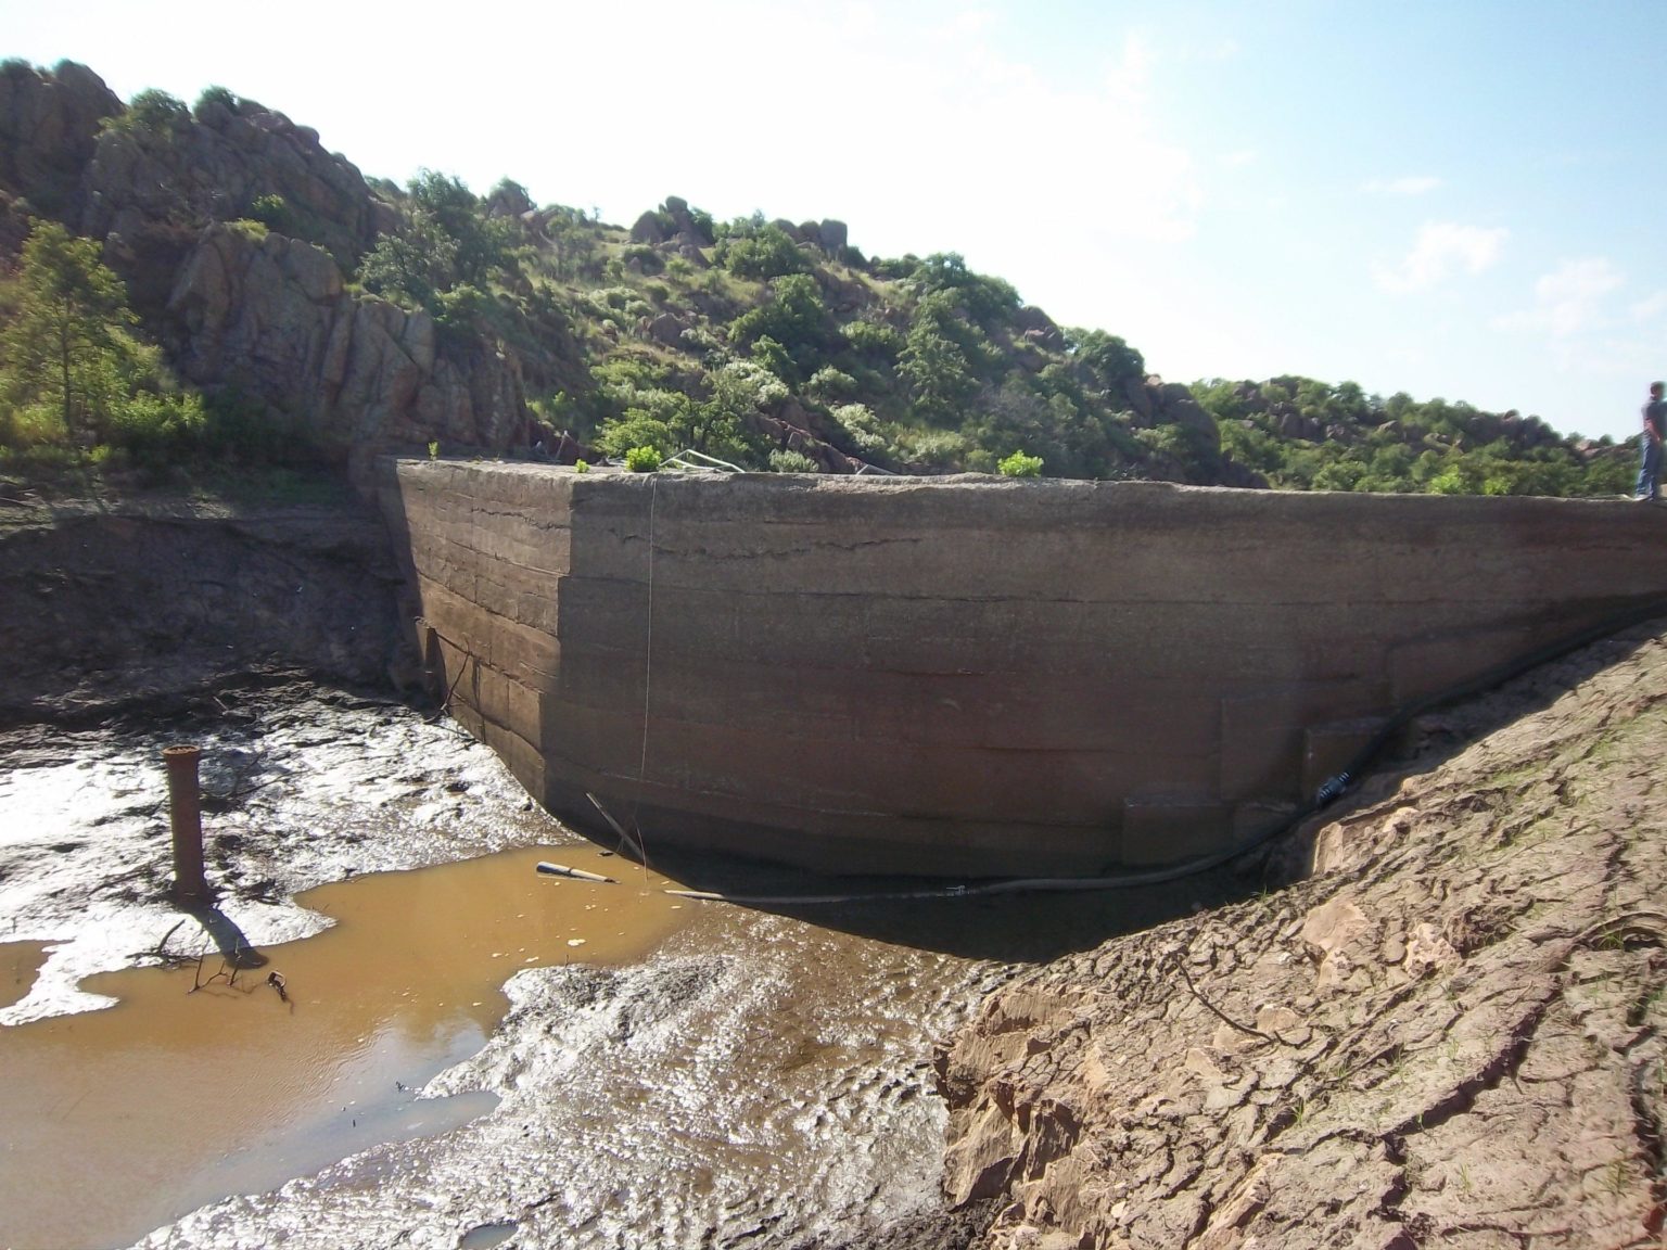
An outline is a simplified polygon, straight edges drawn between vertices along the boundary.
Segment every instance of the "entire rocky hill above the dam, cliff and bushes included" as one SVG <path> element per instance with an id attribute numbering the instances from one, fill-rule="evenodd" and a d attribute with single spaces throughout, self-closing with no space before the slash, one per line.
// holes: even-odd
<path id="1" fill-rule="evenodd" d="M 263 453 L 647 445 L 904 473 L 1025 453 L 1059 477 L 1514 493 L 1627 475 L 1514 413 L 1164 382 L 954 253 L 865 257 L 844 222 L 667 197 L 627 230 L 508 178 L 398 187 L 225 88 L 123 103 L 68 62 L 0 65 L 0 258 L 35 217 L 102 243 L 178 380 Z"/>

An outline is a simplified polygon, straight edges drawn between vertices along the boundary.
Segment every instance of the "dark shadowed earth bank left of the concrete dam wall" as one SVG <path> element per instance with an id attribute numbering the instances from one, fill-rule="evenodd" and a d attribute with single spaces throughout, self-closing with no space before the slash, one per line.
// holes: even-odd
<path id="1" fill-rule="evenodd" d="M 97 715 L 267 670 L 410 678 L 373 513 L 0 502 L 0 723 Z"/>

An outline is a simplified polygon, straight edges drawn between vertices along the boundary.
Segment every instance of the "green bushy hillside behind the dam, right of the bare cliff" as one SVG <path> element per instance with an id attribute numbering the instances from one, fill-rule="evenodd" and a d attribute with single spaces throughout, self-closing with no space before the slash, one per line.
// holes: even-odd
<path id="1" fill-rule="evenodd" d="M 390 190 L 420 212 L 435 185 Z M 844 458 L 935 473 L 995 472 L 1024 452 L 1054 477 L 1519 495 L 1619 493 L 1632 473 L 1625 448 L 1535 417 L 1347 382 L 1205 380 L 1187 405 L 1149 385 L 1125 340 L 1057 327 L 955 253 L 869 262 L 839 223 L 715 222 L 672 197 L 627 233 L 535 208 L 508 182 L 475 215 L 468 228 L 495 223 L 498 308 L 558 307 L 578 347 L 582 370 L 552 370 L 560 385 L 533 410 L 603 455 L 690 447 L 752 468 Z M 455 295 L 420 298 L 383 277 L 382 257 L 428 228 L 407 220 L 405 238 L 367 258 L 365 285 L 445 320 Z M 465 247 L 453 228 L 425 255 Z"/>

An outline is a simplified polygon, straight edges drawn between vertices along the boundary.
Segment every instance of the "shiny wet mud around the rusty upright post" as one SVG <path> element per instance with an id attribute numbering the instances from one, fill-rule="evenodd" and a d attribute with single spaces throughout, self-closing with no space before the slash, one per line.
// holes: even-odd
<path id="1" fill-rule="evenodd" d="M 100 725 L 3 730 L 3 937 L 52 950 L 0 1025 L 103 1007 L 82 978 L 160 962 L 180 912 L 158 770 L 182 737 L 205 752 L 208 883 L 255 947 L 322 930 L 295 903 L 317 885 L 562 837 L 485 747 L 372 693 L 235 685 Z"/>

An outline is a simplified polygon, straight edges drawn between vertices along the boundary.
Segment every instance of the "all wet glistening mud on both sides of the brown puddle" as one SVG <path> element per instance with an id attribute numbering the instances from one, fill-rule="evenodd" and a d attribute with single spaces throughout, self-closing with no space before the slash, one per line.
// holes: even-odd
<path id="1" fill-rule="evenodd" d="M 238 687 L 217 688 L 195 713 L 178 715 L 160 725 L 140 717 L 0 735 L 0 805 L 27 817 L 8 823 L 0 845 L 0 908 L 17 918 L 18 938 L 3 967 L 23 980 L 33 967 L 23 943 L 47 947 L 38 980 L 7 1008 L 7 1022 L 50 1023 L 52 1013 L 98 1005 L 80 980 L 152 963 L 165 938 L 175 952 L 202 945 L 200 935 L 195 945 L 170 937 L 180 913 L 163 897 L 157 753 L 178 737 L 205 747 L 208 877 L 220 908 L 265 948 L 327 923 L 293 902 L 323 882 L 350 887 L 362 873 L 563 840 L 575 862 L 597 853 L 533 808 L 485 747 L 397 703 L 307 685 Z M 605 863 L 622 865 L 622 880 L 597 888 L 643 888 L 623 860 Z M 722 885 L 713 872 L 707 865 L 700 883 Z M 755 885 L 735 872 L 732 883 Z M 578 888 L 538 882 L 548 900 Z M 340 1162 L 323 1170 L 315 1162 L 282 1185 L 245 1185 L 260 1175 L 248 1155 L 262 1142 L 293 1145 L 277 1127 L 253 1132 L 258 1140 L 232 1152 L 242 1158 L 217 1155 L 190 1175 L 158 1175 L 147 1197 L 172 1192 L 177 1205 L 162 1218 L 175 1222 L 142 1243 L 455 1247 L 503 1233 L 505 1245 L 563 1248 L 967 1245 L 982 1217 L 942 1212 L 947 1115 L 934 1097 L 934 1042 L 1022 963 L 1149 925 L 1165 913 L 1152 910 L 1159 905 L 1174 915 L 1215 900 L 1189 883 L 1162 903 L 1049 900 L 1042 913 L 1034 900 L 798 915 L 687 903 L 675 935 L 623 967 L 548 962 L 510 977 L 503 962 L 507 997 L 475 1033 L 478 1053 L 445 1057 L 442 1048 L 432 1077 L 377 1067 L 380 1093 L 372 1093 L 385 1107 L 352 1092 L 352 1110 L 332 1107 L 333 1122 L 308 1130 L 303 1145 L 323 1133 Z M 455 917 L 443 907 L 427 915 L 442 930 Z M 192 968 L 173 975 L 183 977 L 183 1003 Z M 88 988 L 110 985 L 95 978 Z M 303 975 L 295 988 L 297 1012 L 322 1010 L 303 998 L 320 992 L 317 977 Z M 230 1005 L 282 1012 L 263 987 Z M 192 1072 L 187 1063 L 183 1077 Z M 412 1083 L 410 1093 L 395 1090 L 395 1078 Z M 98 1107 L 77 1097 L 65 1088 L 42 1117 L 73 1120 Z M 253 1082 L 223 1095 L 225 1118 L 253 1097 Z M 470 1105 L 467 1123 L 447 1123 L 450 1098 L 483 1103 Z M 410 1140 L 390 1132 L 367 1142 L 353 1137 L 360 1113 L 393 1128 L 405 1123 L 398 1117 L 422 1117 L 427 1128 Z M 20 1145 L 13 1133 L 7 1148 Z M 230 1177 L 222 1193 L 240 1197 L 188 1212 L 202 1200 L 190 1200 L 200 1193 L 192 1187 L 208 1173 Z M 0 1167 L 7 1175 L 22 1172 Z M 72 1202 L 78 1180 L 57 1193 L 52 1185 L 37 1187 L 40 1205 Z M 143 1233 L 128 1228 L 80 1243 Z M 7 1240 L 15 1238 L 0 1230 Z"/>

